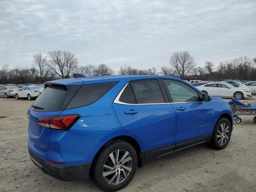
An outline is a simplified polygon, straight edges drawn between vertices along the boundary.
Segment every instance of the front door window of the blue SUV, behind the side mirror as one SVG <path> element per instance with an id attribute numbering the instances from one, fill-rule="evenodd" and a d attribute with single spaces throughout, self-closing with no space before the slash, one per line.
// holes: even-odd
<path id="1" fill-rule="evenodd" d="M 194 102 L 200 100 L 197 91 L 190 86 L 174 80 L 164 80 L 164 82 L 170 92 L 172 102 Z"/>

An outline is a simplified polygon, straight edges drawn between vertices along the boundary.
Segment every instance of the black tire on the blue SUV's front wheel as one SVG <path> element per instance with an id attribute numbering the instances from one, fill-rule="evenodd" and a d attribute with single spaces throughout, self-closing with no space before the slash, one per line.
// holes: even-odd
<path id="1" fill-rule="evenodd" d="M 223 130 L 225 130 L 225 128 L 227 128 L 226 126 L 228 126 L 228 128 L 226 129 L 226 131 L 228 132 L 223 131 L 225 132 L 225 134 L 221 134 L 219 131 L 222 129 L 222 126 L 221 126 L 222 124 L 224 126 Z M 217 121 L 214 127 L 214 131 L 212 133 L 212 138 L 210 141 L 210 145 L 212 146 L 212 148 L 216 150 L 224 149 L 228 145 L 228 142 L 230 141 L 231 132 L 232 132 L 232 127 L 229 120 L 223 117 L 219 118 L 219 120 Z M 221 139 L 223 140 L 223 142 Z"/>

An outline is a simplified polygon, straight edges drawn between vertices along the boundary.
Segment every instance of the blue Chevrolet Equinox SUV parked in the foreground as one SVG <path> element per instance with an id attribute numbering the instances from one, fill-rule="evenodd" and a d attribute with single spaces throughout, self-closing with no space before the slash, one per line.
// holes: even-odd
<path id="1" fill-rule="evenodd" d="M 28 151 L 60 180 L 89 176 L 124 188 L 136 168 L 209 142 L 220 150 L 233 128 L 230 104 L 169 76 L 100 76 L 45 83 L 28 109 Z"/>

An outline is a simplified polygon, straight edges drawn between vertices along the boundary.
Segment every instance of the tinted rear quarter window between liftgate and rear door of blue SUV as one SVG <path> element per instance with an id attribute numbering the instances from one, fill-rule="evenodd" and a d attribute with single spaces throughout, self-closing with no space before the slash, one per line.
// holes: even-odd
<path id="1" fill-rule="evenodd" d="M 92 104 L 117 83 L 118 81 L 83 85 L 65 109 L 72 109 Z M 44 92 L 45 90 L 42 93 Z"/>

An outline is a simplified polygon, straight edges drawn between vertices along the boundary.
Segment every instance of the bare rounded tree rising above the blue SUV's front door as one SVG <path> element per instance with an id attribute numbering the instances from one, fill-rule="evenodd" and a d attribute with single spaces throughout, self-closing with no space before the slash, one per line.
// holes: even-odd
<path id="1" fill-rule="evenodd" d="M 170 58 L 170 64 L 177 71 L 180 78 L 187 76 L 196 66 L 194 58 L 187 51 L 174 52 Z"/>

